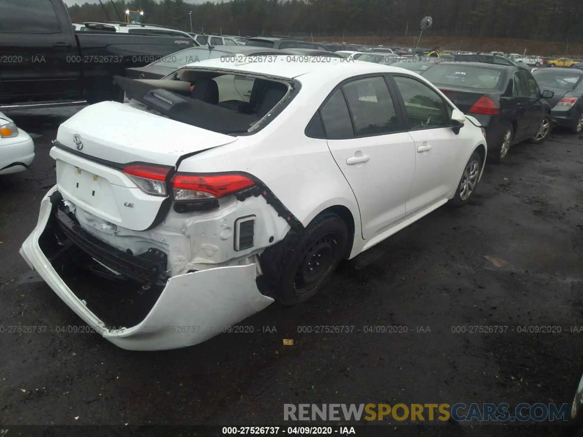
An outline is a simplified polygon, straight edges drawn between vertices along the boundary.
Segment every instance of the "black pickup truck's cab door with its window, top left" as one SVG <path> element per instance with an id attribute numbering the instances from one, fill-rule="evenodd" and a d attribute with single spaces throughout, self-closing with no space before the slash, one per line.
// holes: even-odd
<path id="1" fill-rule="evenodd" d="M 80 97 L 80 56 L 66 18 L 56 0 L 0 2 L 2 82 L 10 101 Z"/>

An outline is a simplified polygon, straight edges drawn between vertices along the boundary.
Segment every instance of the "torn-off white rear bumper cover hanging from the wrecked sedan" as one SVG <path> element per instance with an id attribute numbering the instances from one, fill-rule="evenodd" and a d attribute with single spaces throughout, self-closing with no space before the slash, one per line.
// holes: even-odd
<path id="1" fill-rule="evenodd" d="M 127 350 L 166 350 L 201 343 L 261 311 L 273 302 L 259 292 L 256 266 L 216 267 L 171 277 L 145 318 L 135 326 L 115 329 L 92 311 L 59 276 L 39 245 L 50 221 L 50 196 L 43 198 L 37 226 L 20 248 L 20 254 L 80 318 L 107 340 Z M 95 281 L 107 280 L 94 277 Z"/>

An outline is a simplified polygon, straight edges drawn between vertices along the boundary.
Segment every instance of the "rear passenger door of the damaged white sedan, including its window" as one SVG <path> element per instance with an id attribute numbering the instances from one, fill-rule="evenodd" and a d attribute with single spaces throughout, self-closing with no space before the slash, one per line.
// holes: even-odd
<path id="1" fill-rule="evenodd" d="M 356 196 L 365 239 L 406 214 L 415 150 L 396 106 L 377 75 L 343 83 L 320 110 L 328 147 Z"/>

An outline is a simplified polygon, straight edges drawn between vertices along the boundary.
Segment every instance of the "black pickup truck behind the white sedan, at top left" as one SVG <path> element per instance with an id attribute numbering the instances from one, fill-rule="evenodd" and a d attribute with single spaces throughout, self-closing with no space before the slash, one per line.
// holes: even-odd
<path id="1" fill-rule="evenodd" d="M 177 36 L 76 33 L 62 0 L 2 0 L 0 111 L 118 100 L 114 75 L 194 45 Z"/>

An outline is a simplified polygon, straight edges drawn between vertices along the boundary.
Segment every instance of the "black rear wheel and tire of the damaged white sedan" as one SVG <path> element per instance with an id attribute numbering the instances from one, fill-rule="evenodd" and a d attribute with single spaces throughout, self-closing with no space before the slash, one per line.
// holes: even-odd
<path id="1" fill-rule="evenodd" d="M 348 228 L 334 213 L 317 216 L 285 254 L 275 298 L 296 305 L 315 295 L 330 279 L 346 250 Z"/>

